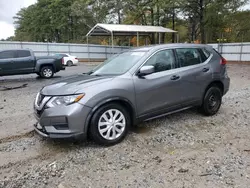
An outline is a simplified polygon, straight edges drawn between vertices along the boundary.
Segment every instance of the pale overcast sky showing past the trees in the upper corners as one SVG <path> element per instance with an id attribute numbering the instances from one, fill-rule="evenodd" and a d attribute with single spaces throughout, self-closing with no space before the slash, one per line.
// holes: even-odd
<path id="1" fill-rule="evenodd" d="M 0 0 L 0 39 L 14 35 L 13 16 L 23 7 L 35 3 L 37 0 Z M 244 7 L 250 9 L 250 4 Z"/>

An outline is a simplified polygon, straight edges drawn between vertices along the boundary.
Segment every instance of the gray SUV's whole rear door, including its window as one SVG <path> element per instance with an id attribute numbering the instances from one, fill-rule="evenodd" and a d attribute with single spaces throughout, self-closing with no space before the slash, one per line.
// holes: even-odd
<path id="1" fill-rule="evenodd" d="M 179 74 L 182 77 L 183 106 L 192 105 L 202 100 L 204 88 L 212 79 L 211 58 L 205 57 L 197 48 L 176 49 L 176 54 L 181 67 Z"/>

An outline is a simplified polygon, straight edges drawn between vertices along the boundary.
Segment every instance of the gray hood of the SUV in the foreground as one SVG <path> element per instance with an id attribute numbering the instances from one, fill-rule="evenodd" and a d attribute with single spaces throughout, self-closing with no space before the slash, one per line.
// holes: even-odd
<path id="1" fill-rule="evenodd" d="M 113 79 L 111 76 L 77 75 L 68 77 L 54 84 L 45 86 L 41 94 L 49 96 L 72 95 L 81 93 L 87 87 L 107 82 Z"/>

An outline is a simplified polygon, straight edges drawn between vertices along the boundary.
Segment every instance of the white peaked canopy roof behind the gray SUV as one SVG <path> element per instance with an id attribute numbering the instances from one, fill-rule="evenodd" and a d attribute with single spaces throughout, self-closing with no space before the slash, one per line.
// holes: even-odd
<path id="1" fill-rule="evenodd" d="M 87 36 L 134 36 L 150 33 L 176 33 L 176 31 L 161 26 L 96 24 Z"/>

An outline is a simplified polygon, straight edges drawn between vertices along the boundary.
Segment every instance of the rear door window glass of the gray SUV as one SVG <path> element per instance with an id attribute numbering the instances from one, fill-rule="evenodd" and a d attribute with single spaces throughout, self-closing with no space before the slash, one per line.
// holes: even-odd
<path id="1" fill-rule="evenodd" d="M 176 49 L 176 53 L 181 67 L 202 63 L 201 54 L 196 48 Z"/>

